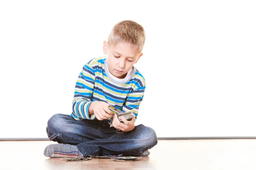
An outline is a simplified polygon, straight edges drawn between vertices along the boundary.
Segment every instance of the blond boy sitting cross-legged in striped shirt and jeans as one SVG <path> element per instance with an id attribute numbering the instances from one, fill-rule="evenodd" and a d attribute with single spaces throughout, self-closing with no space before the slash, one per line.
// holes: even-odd
<path id="1" fill-rule="evenodd" d="M 131 20 L 117 23 L 103 43 L 107 57 L 91 59 L 82 68 L 75 86 L 71 115 L 55 114 L 47 125 L 47 157 L 119 155 L 148 156 L 157 144 L 151 127 L 135 126 L 145 91 L 145 79 L 134 64 L 143 55 L 144 28 Z M 122 122 L 108 108 L 134 113 Z M 109 118 L 113 116 L 113 127 Z"/>

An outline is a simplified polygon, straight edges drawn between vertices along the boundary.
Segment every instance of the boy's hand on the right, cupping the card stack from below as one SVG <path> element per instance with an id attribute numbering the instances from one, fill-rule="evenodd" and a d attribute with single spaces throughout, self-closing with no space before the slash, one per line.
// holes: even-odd
<path id="1" fill-rule="evenodd" d="M 124 110 L 127 112 L 129 110 L 125 109 Z M 134 120 L 135 120 L 135 115 L 131 120 L 126 120 L 124 116 L 121 116 L 122 121 L 120 122 L 119 119 L 117 118 L 116 114 L 113 115 L 113 127 L 116 129 L 122 130 L 122 132 L 129 132 L 134 129 Z"/>

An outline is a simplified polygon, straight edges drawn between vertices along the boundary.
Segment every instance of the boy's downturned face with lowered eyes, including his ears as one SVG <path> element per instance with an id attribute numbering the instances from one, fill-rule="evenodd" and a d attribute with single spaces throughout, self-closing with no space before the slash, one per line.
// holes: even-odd
<path id="1" fill-rule="evenodd" d="M 143 53 L 138 53 L 137 48 L 130 43 L 117 43 L 108 45 L 105 41 L 103 52 L 107 54 L 109 72 L 116 78 L 125 78 L 128 71 L 139 60 Z"/>

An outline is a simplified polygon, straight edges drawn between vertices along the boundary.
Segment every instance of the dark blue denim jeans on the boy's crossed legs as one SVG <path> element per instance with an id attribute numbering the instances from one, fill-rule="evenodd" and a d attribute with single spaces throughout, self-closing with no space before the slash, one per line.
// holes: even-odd
<path id="1" fill-rule="evenodd" d="M 84 157 L 148 156 L 148 149 L 157 144 L 157 135 L 151 127 L 142 124 L 127 133 L 116 133 L 105 120 L 76 120 L 70 115 L 55 114 L 48 120 L 47 135 L 50 141 L 76 145 Z M 148 154 L 147 154 L 148 153 Z"/>

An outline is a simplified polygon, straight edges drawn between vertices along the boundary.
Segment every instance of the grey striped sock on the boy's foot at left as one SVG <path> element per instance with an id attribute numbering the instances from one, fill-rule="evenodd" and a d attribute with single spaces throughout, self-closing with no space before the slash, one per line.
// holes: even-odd
<path id="1" fill-rule="evenodd" d="M 70 144 L 49 144 L 44 149 L 44 156 L 47 157 L 81 157 L 83 156 L 76 145 Z"/>

